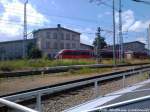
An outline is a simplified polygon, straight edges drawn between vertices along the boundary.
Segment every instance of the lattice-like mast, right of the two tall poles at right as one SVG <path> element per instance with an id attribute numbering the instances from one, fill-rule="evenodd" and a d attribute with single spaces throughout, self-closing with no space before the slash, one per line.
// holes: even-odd
<path id="1" fill-rule="evenodd" d="M 122 35 L 122 2 L 119 0 L 119 58 L 120 61 L 124 61 L 124 49 L 123 49 L 123 35 Z"/>

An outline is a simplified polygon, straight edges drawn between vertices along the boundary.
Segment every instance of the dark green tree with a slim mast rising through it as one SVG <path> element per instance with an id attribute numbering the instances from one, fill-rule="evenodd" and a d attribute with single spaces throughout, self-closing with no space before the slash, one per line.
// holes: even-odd
<path id="1" fill-rule="evenodd" d="M 101 49 L 103 49 L 105 46 L 107 46 L 107 43 L 105 41 L 105 38 L 101 36 L 101 28 L 98 27 L 97 33 L 96 33 L 96 38 L 93 41 L 93 46 L 96 51 L 96 56 L 97 56 L 97 62 L 101 62 Z"/>

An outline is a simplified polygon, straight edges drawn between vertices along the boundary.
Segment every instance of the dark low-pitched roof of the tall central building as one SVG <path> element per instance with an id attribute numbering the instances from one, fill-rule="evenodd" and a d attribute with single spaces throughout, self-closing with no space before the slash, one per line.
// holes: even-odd
<path id="1" fill-rule="evenodd" d="M 42 28 L 42 29 L 38 29 L 38 30 L 33 31 L 33 33 L 36 33 L 36 32 L 39 32 L 39 31 L 44 31 L 44 30 L 58 30 L 58 28 L 60 28 L 60 29 L 62 29 L 62 30 L 69 31 L 69 32 L 77 33 L 78 35 L 81 34 L 81 33 L 79 33 L 79 32 L 76 32 L 76 31 L 73 31 L 73 30 L 70 30 L 70 29 L 67 29 L 67 28 L 64 28 L 64 27 L 57 27 L 57 28 Z"/>

